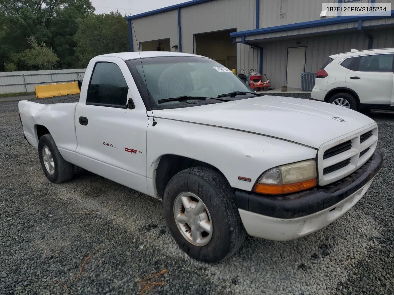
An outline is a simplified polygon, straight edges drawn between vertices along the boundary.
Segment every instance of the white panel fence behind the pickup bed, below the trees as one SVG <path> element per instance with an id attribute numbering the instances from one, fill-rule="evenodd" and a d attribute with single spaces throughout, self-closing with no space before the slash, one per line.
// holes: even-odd
<path id="1" fill-rule="evenodd" d="M 34 92 L 37 85 L 78 81 L 86 69 L 0 72 L 0 94 Z"/>

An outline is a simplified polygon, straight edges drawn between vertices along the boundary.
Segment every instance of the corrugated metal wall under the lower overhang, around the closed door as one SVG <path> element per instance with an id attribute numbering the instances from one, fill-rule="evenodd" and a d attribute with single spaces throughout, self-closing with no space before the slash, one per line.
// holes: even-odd
<path id="1" fill-rule="evenodd" d="M 373 48 L 394 47 L 394 30 L 371 30 Z M 299 44 L 297 44 L 299 43 Z M 305 72 L 315 72 L 336 53 L 368 49 L 368 38 L 361 32 L 340 33 L 321 37 L 309 37 L 260 44 L 264 48 L 263 72 L 267 74 L 273 88 L 286 85 L 287 49 L 306 46 Z M 263 73 L 263 74 L 264 74 Z"/>

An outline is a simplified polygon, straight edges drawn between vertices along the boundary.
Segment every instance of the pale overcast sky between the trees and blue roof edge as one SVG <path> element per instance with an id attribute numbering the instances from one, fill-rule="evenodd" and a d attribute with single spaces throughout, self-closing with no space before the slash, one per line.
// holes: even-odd
<path id="1" fill-rule="evenodd" d="M 188 0 L 91 0 L 97 14 L 119 10 L 121 15 L 134 15 L 186 1 Z"/>

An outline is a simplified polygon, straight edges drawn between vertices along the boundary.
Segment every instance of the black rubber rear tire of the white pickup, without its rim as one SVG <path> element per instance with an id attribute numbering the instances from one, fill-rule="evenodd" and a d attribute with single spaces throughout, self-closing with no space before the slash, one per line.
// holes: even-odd
<path id="1" fill-rule="evenodd" d="M 43 159 L 43 149 L 48 147 L 54 162 L 54 173 L 50 173 L 45 167 Z M 74 164 L 67 162 L 59 153 L 58 147 L 52 138 L 52 135 L 45 134 L 41 136 L 38 142 L 38 155 L 40 158 L 41 168 L 46 178 L 52 183 L 64 183 L 70 181 L 74 176 Z"/>

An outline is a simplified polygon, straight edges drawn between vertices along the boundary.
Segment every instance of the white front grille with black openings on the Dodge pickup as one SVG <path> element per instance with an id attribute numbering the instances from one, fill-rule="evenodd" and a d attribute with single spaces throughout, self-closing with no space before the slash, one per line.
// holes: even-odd
<path id="1" fill-rule="evenodd" d="M 374 125 L 324 144 L 318 151 L 319 184 L 333 183 L 356 171 L 374 153 L 377 138 Z"/>

